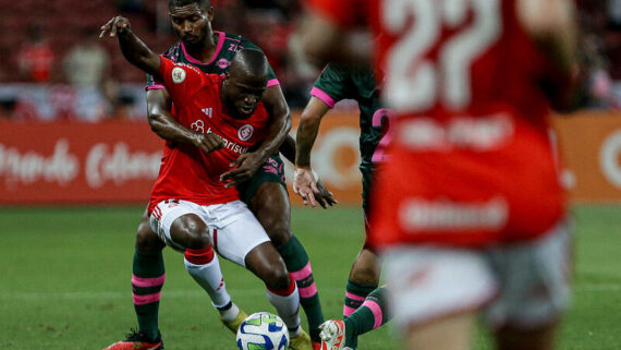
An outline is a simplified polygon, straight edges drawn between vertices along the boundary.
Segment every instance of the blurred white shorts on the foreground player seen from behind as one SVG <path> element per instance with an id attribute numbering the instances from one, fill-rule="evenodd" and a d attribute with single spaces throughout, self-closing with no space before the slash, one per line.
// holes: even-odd
<path id="1" fill-rule="evenodd" d="M 570 237 L 564 224 L 529 242 L 484 250 L 399 246 L 382 252 L 398 326 L 484 309 L 492 327 L 555 322 L 569 302 Z"/>

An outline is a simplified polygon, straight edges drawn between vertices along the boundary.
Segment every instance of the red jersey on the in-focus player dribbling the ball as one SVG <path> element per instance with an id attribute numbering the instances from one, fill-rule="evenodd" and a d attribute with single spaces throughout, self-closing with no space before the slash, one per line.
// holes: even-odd
<path id="1" fill-rule="evenodd" d="M 231 161 L 265 137 L 268 114 L 263 102 L 249 118 L 232 118 L 220 98 L 223 77 L 160 58 L 159 73 L 173 100 L 179 122 L 200 133 L 220 135 L 226 146 L 205 154 L 193 145 L 168 142 L 151 192 L 149 214 L 165 200 L 185 200 L 199 205 L 238 200 L 238 190 L 226 189 L 220 174 L 231 169 Z"/>

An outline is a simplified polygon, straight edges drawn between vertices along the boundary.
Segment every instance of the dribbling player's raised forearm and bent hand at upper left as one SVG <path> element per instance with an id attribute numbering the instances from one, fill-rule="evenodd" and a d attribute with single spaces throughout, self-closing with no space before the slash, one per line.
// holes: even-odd
<path id="1" fill-rule="evenodd" d="M 143 40 L 141 40 L 130 26 L 130 21 L 123 16 L 115 16 L 101 26 L 101 34 L 110 37 L 118 37 L 119 47 L 125 59 L 133 65 L 151 74 L 160 76 L 158 70 L 160 65 L 160 58 L 157 53 L 151 51 Z"/>

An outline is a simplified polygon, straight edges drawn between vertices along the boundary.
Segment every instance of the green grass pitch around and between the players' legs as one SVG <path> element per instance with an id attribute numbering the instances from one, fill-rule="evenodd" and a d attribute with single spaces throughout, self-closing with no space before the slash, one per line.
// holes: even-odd
<path id="1" fill-rule="evenodd" d="M 0 349 L 101 349 L 135 325 L 131 299 L 134 232 L 143 207 L 0 208 Z M 327 317 L 342 311 L 351 263 L 363 240 L 357 208 L 297 208 Z M 559 349 L 621 349 L 621 207 L 579 206 L 574 299 Z M 160 328 L 167 349 L 235 349 L 179 253 L 166 250 Z M 272 310 L 258 279 L 222 262 L 230 293 L 246 312 Z M 304 318 L 304 317 L 303 317 Z M 361 350 L 397 349 L 383 327 Z M 491 349 L 482 331 L 477 349 Z"/>

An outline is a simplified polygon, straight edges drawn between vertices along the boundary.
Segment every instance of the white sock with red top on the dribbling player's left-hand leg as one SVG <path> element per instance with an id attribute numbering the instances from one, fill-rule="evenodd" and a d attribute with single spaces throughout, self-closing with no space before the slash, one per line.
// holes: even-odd
<path id="1" fill-rule="evenodd" d="M 183 262 L 185 264 L 185 270 L 187 270 L 190 276 L 209 294 L 214 306 L 222 307 L 231 301 L 231 295 L 227 292 L 224 278 L 220 270 L 218 255 L 214 255 L 214 260 L 205 265 L 193 264 L 186 258 L 184 258 Z"/>

